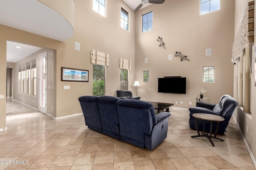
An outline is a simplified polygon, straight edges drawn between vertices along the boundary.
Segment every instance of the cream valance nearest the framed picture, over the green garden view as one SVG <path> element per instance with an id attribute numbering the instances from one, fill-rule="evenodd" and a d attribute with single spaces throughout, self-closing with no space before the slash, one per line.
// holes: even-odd
<path id="1" fill-rule="evenodd" d="M 109 66 L 109 54 L 91 50 L 91 63 Z"/>

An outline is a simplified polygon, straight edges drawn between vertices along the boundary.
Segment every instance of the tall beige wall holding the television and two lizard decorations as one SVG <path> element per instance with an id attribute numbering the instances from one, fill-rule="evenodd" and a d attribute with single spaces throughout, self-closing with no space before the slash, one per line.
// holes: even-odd
<path id="1" fill-rule="evenodd" d="M 222 0 L 221 10 L 199 15 L 199 0 L 170 0 L 148 6 L 136 12 L 136 72 L 140 81 L 138 96 L 142 99 L 175 103 L 175 107 L 195 106 L 200 88 L 209 102 L 217 103 L 223 94 L 233 94 L 234 1 Z M 141 16 L 153 11 L 153 30 L 141 33 Z M 158 47 L 156 39 L 163 38 L 166 49 Z M 206 57 L 206 49 L 212 56 Z M 187 55 L 190 61 L 174 57 L 176 51 Z M 173 60 L 168 61 L 168 55 Z M 144 58 L 148 58 L 148 64 Z M 215 66 L 215 82 L 203 83 L 203 66 Z M 150 71 L 149 83 L 143 83 L 143 70 Z M 186 94 L 158 93 L 158 78 L 186 77 Z M 180 104 L 180 102 L 183 104 Z M 189 105 L 192 102 L 192 105 Z"/>

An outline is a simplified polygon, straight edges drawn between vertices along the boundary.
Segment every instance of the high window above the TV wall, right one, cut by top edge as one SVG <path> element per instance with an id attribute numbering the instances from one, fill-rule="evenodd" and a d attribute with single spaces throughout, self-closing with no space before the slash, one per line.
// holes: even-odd
<path id="1" fill-rule="evenodd" d="M 220 10 L 220 0 L 200 0 L 200 15 Z"/>

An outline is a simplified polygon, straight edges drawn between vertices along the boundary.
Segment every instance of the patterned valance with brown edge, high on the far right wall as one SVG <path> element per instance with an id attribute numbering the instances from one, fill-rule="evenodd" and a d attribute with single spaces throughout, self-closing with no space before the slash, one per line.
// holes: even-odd
<path id="1" fill-rule="evenodd" d="M 232 48 L 232 63 L 236 63 L 245 46 L 254 42 L 254 1 L 248 2 Z"/>

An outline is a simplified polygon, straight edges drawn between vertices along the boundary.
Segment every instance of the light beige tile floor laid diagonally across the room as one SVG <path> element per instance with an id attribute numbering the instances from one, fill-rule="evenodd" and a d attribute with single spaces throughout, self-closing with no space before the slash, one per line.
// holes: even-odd
<path id="1" fill-rule="evenodd" d="M 188 110 L 170 108 L 168 136 L 154 150 L 88 129 L 83 115 L 54 120 L 18 102 L 6 104 L 0 170 L 255 170 L 233 118 L 224 142 L 191 138 Z"/>

